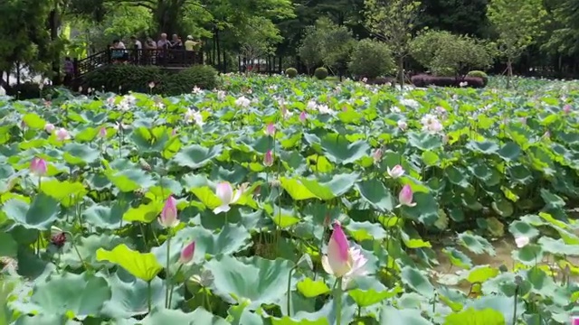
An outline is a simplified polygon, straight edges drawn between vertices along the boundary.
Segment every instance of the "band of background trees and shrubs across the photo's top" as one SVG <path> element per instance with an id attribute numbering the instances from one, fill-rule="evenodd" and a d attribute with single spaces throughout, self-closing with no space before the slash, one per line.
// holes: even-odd
<path id="1" fill-rule="evenodd" d="M 356 42 L 370 39 L 387 47 L 372 47 L 375 53 L 390 53 L 378 70 L 398 70 L 399 79 L 402 68 L 562 77 L 576 73 L 576 9 L 573 0 L 11 0 L 0 4 L 0 71 L 26 68 L 59 81 L 64 55 L 82 58 L 132 34 L 175 32 L 203 40 L 206 61 L 223 72 L 237 70 L 241 55 L 275 56 L 278 71 L 312 74 L 324 66 L 361 76 L 375 62 L 359 55 L 370 43 Z M 417 50 L 416 36 L 446 43 L 440 53 L 429 43 Z M 424 51 L 437 55 L 425 61 L 417 54 Z M 460 60 L 450 64 L 451 57 Z M 0 84 L 6 81 L 3 75 Z"/>

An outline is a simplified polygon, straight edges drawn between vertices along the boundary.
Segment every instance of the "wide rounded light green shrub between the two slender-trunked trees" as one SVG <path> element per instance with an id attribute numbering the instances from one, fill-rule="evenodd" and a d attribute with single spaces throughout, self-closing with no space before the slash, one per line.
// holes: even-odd
<path id="1" fill-rule="evenodd" d="M 422 66 L 440 76 L 466 74 L 470 69 L 484 69 L 492 56 L 482 43 L 450 32 L 423 32 L 411 43 L 410 52 Z"/>

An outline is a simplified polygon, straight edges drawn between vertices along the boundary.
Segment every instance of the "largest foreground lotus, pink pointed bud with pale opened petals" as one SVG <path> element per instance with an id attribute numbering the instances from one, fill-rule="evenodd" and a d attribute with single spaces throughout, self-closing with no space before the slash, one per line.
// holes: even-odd
<path id="1" fill-rule="evenodd" d="M 346 288 L 347 282 L 355 276 L 365 275 L 365 264 L 368 261 L 360 250 L 350 247 L 346 234 L 339 223 L 334 222 L 334 231 L 327 243 L 327 254 L 322 256 L 322 266 L 327 274 L 342 278 L 342 287 Z"/>

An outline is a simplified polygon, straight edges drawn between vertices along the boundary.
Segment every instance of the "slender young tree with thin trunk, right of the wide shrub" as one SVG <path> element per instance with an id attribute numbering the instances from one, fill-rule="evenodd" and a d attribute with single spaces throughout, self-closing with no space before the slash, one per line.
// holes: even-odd
<path id="1" fill-rule="evenodd" d="M 547 13 L 543 0 L 492 0 L 487 12 L 498 33 L 498 51 L 507 60 L 509 88 L 513 61 L 542 34 Z"/>

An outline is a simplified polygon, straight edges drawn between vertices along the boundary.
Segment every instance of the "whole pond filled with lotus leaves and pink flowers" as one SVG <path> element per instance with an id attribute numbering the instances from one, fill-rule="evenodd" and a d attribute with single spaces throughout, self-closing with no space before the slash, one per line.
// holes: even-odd
<path id="1" fill-rule="evenodd" d="M 222 86 L 0 98 L 1 324 L 579 311 L 578 83 Z"/>

